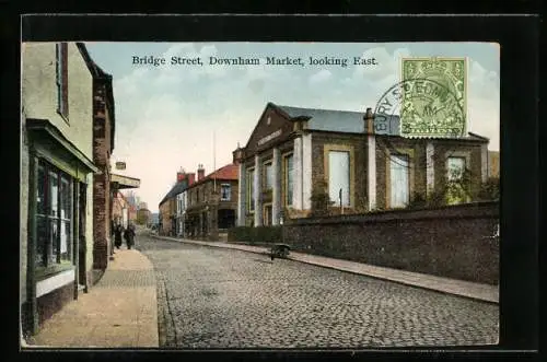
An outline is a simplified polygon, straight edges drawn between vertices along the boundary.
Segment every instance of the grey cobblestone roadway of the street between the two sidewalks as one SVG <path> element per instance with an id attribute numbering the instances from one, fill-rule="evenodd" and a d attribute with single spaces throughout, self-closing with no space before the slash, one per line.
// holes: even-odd
<path id="1" fill-rule="evenodd" d="M 160 345 L 370 348 L 497 343 L 494 304 L 286 259 L 141 235 Z"/>

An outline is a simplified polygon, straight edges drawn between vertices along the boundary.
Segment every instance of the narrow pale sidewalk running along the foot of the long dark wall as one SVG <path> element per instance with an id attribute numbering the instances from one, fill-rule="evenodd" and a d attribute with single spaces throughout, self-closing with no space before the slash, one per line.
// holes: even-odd
<path id="1" fill-rule="evenodd" d="M 269 254 L 269 248 L 265 246 L 228 244 L 223 242 L 198 242 L 198 241 L 190 241 L 187 238 L 166 237 L 158 235 L 152 235 L 152 236 L 158 238 L 191 243 L 197 245 L 232 248 L 232 249 L 245 250 L 257 254 Z M 442 278 L 419 272 L 375 267 L 356 261 L 327 258 L 317 255 L 296 253 L 296 252 L 291 252 L 288 259 L 316 265 L 325 268 L 348 271 L 357 275 L 385 279 L 407 285 L 430 289 L 438 292 L 455 294 L 459 296 L 470 297 L 474 300 L 479 300 L 490 303 L 499 303 L 498 285 L 474 283 L 469 281 Z"/>

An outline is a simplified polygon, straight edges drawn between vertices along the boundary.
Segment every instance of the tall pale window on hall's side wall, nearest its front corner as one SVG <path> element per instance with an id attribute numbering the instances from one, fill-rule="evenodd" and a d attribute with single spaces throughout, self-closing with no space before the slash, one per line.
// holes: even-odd
<path id="1" fill-rule="evenodd" d="M 336 206 L 350 205 L 350 182 L 349 182 L 349 152 L 328 152 L 328 196 Z"/>

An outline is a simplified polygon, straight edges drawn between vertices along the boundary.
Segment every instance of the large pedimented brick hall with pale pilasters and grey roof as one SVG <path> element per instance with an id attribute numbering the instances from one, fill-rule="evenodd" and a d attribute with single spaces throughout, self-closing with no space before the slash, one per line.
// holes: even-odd
<path id="1" fill-rule="evenodd" d="M 397 116 L 388 124 L 381 135 L 370 108 L 365 115 L 268 103 L 247 144 L 234 151 L 238 225 L 306 217 L 322 200 L 330 213 L 404 208 L 464 172 L 470 194 L 486 180 L 488 139 L 406 139 L 396 136 Z"/>

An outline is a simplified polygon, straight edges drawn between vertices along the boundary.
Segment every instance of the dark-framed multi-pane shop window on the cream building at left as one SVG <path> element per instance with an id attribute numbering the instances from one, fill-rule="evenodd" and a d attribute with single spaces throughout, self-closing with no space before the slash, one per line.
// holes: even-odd
<path id="1" fill-rule="evenodd" d="M 36 266 L 72 259 L 72 178 L 40 161 L 36 205 Z"/>

